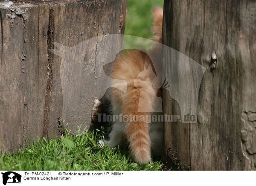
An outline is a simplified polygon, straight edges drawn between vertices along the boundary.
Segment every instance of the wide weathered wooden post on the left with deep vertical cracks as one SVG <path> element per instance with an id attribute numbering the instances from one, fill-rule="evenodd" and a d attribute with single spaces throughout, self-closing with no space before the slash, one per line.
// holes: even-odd
<path id="1" fill-rule="evenodd" d="M 123 34 L 126 13 L 126 0 L 18 2 L 0 2 L 0 146 L 11 151 L 22 145 L 24 132 L 31 139 L 61 134 L 61 57 L 49 51 L 57 48 L 52 43 L 74 46 L 99 35 Z M 122 49 L 122 43 L 116 46 Z M 93 55 L 97 47 L 91 46 Z M 86 95 L 92 102 L 84 104 L 86 113 L 96 88 Z M 90 117 L 80 123 L 90 125 Z"/>

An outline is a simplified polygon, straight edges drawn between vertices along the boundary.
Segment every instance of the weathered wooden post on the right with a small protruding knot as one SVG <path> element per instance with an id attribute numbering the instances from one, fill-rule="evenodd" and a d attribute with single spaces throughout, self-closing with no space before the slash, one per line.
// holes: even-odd
<path id="1" fill-rule="evenodd" d="M 250 0 L 165 1 L 163 44 L 206 68 L 197 123 L 165 123 L 164 160 L 173 169 L 256 170 L 255 12 Z M 165 112 L 173 105 L 165 100 Z"/>

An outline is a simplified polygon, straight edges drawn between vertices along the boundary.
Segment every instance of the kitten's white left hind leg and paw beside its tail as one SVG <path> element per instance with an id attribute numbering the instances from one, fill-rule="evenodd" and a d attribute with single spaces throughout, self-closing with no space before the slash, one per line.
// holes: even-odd
<path id="1" fill-rule="evenodd" d="M 124 135 L 124 124 L 121 122 L 115 122 L 112 126 L 112 131 L 109 134 L 109 140 L 99 140 L 98 144 L 101 146 L 109 145 L 110 148 L 120 145 Z"/>

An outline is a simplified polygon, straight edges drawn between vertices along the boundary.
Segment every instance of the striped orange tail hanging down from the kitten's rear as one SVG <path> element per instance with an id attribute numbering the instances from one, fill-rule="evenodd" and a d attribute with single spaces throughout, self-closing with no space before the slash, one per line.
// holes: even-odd
<path id="1" fill-rule="evenodd" d="M 149 124 L 139 120 L 139 116 L 143 116 L 143 113 L 138 113 L 137 111 L 139 109 L 139 99 L 141 99 L 140 103 L 143 102 L 145 108 L 152 107 L 152 104 L 146 99 L 147 97 L 145 90 L 130 85 L 122 104 L 122 114 L 128 116 L 131 114 L 133 116 L 132 122 L 126 122 L 125 134 L 130 143 L 131 155 L 140 164 L 148 163 L 151 159 Z"/>

